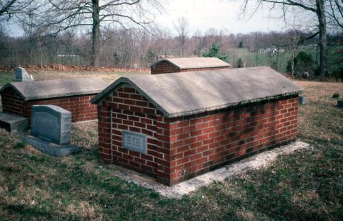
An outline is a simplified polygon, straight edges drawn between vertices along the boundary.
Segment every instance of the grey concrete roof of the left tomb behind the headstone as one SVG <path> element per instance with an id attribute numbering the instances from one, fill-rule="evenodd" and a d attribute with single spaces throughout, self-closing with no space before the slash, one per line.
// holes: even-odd
<path id="1" fill-rule="evenodd" d="M 25 101 L 74 96 L 84 94 L 97 94 L 108 86 L 99 78 L 71 78 L 54 79 L 46 81 L 26 81 L 7 83 L 0 92 L 6 88 L 13 88 L 19 92 Z"/>

